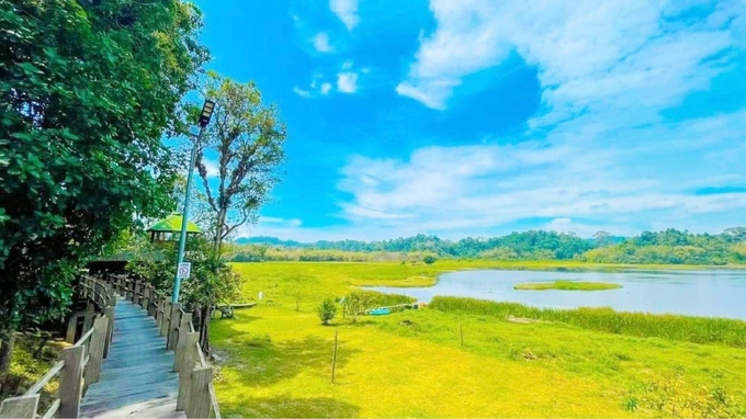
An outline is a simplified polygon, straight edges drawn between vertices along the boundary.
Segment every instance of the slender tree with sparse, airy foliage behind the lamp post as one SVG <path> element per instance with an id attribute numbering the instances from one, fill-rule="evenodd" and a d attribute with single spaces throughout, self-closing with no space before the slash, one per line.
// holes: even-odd
<path id="1" fill-rule="evenodd" d="M 210 72 L 205 95 L 217 106 L 197 146 L 196 168 L 213 214 L 213 245 L 219 252 L 236 228 L 257 219 L 279 181 L 286 131 L 276 106 L 262 103 L 253 82 L 238 83 Z"/>

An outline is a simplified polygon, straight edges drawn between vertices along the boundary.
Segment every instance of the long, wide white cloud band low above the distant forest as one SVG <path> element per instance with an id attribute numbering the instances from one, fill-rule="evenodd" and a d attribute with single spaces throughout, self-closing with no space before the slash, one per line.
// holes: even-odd
<path id="1" fill-rule="evenodd" d="M 389 236 L 483 235 L 525 218 L 546 218 L 544 228 L 584 237 L 598 229 L 638 233 L 655 220 L 687 227 L 699 215 L 736 214 L 746 205 L 746 194 L 691 193 L 723 173 L 746 183 L 733 156 L 746 155 L 746 145 L 734 148 L 746 136 L 739 122 L 745 117 L 741 112 L 654 129 L 630 127 L 618 133 L 635 139 L 625 148 L 598 141 L 609 134 L 602 131 L 579 140 L 557 135 L 555 143 L 426 147 L 408 160 L 357 156 L 338 185 L 354 196 L 340 204 L 341 215 L 353 226 Z M 646 147 L 656 138 L 668 139 L 663 147 Z"/>

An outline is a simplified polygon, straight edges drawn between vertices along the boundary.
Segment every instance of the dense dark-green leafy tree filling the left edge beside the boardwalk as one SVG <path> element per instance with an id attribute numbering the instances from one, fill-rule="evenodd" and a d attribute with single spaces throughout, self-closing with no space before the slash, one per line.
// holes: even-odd
<path id="1" fill-rule="evenodd" d="M 0 373 L 134 215 L 171 205 L 161 143 L 208 58 L 181 0 L 0 0 Z"/>

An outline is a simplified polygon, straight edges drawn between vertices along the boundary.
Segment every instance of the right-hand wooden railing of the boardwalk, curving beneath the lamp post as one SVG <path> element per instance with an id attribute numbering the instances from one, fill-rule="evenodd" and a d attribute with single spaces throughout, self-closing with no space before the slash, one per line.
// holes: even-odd
<path id="1" fill-rule="evenodd" d="M 128 301 L 139 304 L 156 319 L 166 348 L 176 353 L 173 371 L 179 373 L 177 410 L 188 418 L 221 419 L 221 409 L 213 387 L 214 366 L 210 365 L 200 348 L 200 333 L 194 330 L 192 314 L 171 296 L 159 293 L 152 284 L 127 275 L 110 275 L 112 287 Z"/>

